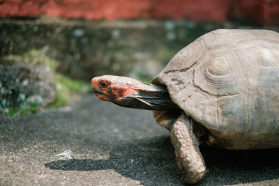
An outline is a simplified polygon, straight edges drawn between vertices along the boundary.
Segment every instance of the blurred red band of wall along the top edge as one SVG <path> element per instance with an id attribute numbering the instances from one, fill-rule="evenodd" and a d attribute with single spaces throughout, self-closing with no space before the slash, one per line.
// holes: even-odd
<path id="1" fill-rule="evenodd" d="M 187 18 L 225 21 L 229 16 L 279 24 L 279 0 L 2 0 L 0 17 L 91 19 Z"/>

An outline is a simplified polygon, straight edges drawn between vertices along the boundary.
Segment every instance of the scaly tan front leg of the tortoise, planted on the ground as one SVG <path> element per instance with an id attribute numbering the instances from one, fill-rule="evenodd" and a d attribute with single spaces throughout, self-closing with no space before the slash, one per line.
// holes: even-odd
<path id="1" fill-rule="evenodd" d="M 184 113 L 170 130 L 176 164 L 183 173 L 183 183 L 195 184 L 204 177 L 206 166 L 199 151 L 199 141 L 193 132 L 193 121 Z"/>

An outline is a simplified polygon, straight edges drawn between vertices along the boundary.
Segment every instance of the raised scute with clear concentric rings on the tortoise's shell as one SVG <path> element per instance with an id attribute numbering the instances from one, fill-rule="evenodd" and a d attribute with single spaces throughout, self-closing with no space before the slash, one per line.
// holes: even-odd
<path id="1" fill-rule="evenodd" d="M 234 51 L 220 49 L 209 52 L 202 57 L 194 69 L 194 84 L 211 95 L 229 95 L 241 91 L 237 79 L 242 75 L 240 64 Z"/>

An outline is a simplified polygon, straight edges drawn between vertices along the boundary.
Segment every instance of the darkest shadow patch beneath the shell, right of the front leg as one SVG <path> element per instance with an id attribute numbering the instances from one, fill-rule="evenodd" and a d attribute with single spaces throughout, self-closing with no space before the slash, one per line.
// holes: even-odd
<path id="1" fill-rule="evenodd" d="M 279 149 L 222 150 L 202 148 L 209 173 L 201 185 L 235 185 L 279 178 Z"/>

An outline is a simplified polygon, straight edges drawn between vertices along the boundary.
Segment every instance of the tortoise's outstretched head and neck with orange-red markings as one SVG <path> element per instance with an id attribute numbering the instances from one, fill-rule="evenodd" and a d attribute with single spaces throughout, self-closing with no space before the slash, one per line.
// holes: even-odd
<path id="1" fill-rule="evenodd" d="M 178 108 L 169 97 L 165 86 L 147 84 L 130 77 L 94 77 L 91 86 L 100 100 L 110 101 L 122 107 L 148 110 Z"/>

